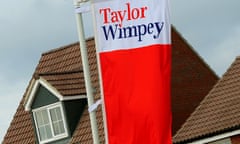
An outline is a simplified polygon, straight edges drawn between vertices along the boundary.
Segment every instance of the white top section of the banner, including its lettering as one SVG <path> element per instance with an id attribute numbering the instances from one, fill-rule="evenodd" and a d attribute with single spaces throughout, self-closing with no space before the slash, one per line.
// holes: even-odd
<path id="1" fill-rule="evenodd" d="M 170 44 L 170 35 L 166 36 L 170 33 L 166 3 L 165 0 L 96 2 L 96 25 L 101 26 L 97 28 L 100 51 Z"/>

